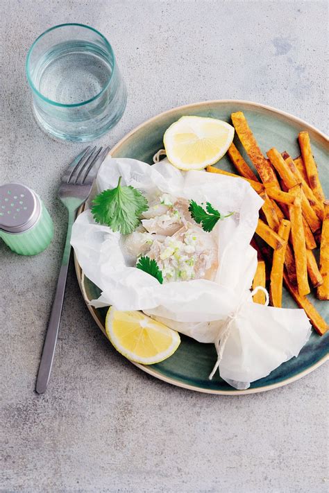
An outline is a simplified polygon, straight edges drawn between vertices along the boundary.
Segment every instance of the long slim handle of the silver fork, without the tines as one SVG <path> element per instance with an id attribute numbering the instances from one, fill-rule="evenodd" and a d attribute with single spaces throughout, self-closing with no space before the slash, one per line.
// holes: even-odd
<path id="1" fill-rule="evenodd" d="M 53 355 L 55 354 L 58 329 L 60 327 L 60 317 L 62 315 L 62 305 L 64 300 L 65 286 L 67 280 L 67 270 L 69 268 L 69 258 L 71 254 L 71 232 L 74 219 L 76 217 L 76 210 L 69 210 L 69 221 L 67 225 L 67 237 L 65 241 L 65 248 L 62 257 L 62 265 L 60 267 L 60 274 L 58 276 L 57 288 L 55 298 L 53 300 L 53 306 L 51 308 L 51 315 L 49 318 L 49 325 L 47 328 L 46 338 L 44 339 L 44 347 L 42 349 L 42 356 L 37 373 L 37 384 L 35 390 L 38 394 L 43 394 L 48 385 L 51 366 L 53 365 Z"/>

